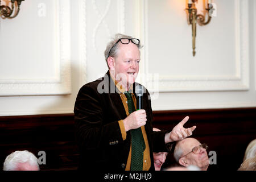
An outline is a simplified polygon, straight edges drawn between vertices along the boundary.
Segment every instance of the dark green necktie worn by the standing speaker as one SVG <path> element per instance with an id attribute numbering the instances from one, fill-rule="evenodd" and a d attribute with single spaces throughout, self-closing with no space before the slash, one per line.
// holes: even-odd
<path id="1" fill-rule="evenodd" d="M 130 93 L 125 93 L 129 114 L 135 111 L 133 98 Z M 141 131 L 141 127 L 131 130 L 131 171 L 142 171 L 143 169 L 143 152 L 145 143 Z"/>

